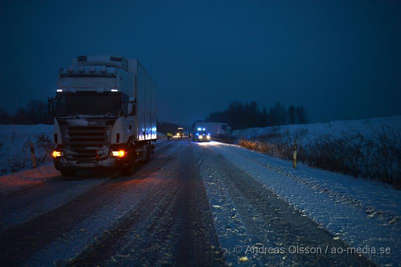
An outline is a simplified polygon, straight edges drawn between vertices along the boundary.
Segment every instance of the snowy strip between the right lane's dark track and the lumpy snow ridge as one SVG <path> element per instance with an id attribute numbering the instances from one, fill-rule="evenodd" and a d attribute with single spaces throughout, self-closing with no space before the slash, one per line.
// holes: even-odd
<path id="1" fill-rule="evenodd" d="M 260 163 L 254 162 L 256 159 L 262 161 L 263 158 L 266 158 L 267 163 L 274 167 L 275 162 L 277 162 L 278 166 L 281 166 L 283 164 L 281 160 L 272 159 L 260 153 L 233 145 L 211 144 L 210 147 L 225 156 L 227 160 L 253 177 L 268 190 L 273 191 L 297 210 L 308 215 L 316 224 L 324 226 L 347 244 L 353 247 L 369 246 L 377 250 L 380 247 L 391 248 L 391 253 L 366 254 L 374 262 L 378 264 L 399 262 L 401 246 L 397 240 L 400 234 L 395 227 L 382 225 L 380 221 L 367 218 L 364 213 L 353 206 L 336 203 L 328 195 L 314 191 L 308 186 L 300 185 L 297 181 L 288 179 L 285 175 L 283 176 Z M 251 154 L 255 154 L 255 159 L 251 157 Z M 315 170 L 312 169 L 311 171 L 313 174 Z M 296 170 L 293 172 L 296 172 Z M 308 175 L 308 173 L 305 175 Z M 392 203 L 394 204 L 393 201 Z"/>

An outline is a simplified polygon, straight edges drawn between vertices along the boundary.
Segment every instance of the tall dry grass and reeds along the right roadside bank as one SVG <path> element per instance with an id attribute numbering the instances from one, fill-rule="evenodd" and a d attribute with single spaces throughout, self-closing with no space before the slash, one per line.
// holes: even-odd
<path id="1" fill-rule="evenodd" d="M 321 135 L 308 138 L 306 129 L 280 132 L 269 129 L 254 139 L 241 139 L 238 145 L 266 155 L 292 160 L 297 139 L 297 161 L 310 167 L 401 186 L 401 132 L 386 125 L 370 137 L 359 131 L 339 137 Z"/>

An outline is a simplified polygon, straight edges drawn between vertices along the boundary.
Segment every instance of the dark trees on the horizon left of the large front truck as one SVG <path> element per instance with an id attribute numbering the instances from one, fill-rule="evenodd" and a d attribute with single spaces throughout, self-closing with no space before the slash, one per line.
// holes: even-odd
<path id="1" fill-rule="evenodd" d="M 11 114 L 0 107 L 0 124 L 53 124 L 53 116 L 48 113 L 48 105 L 42 100 L 31 100 L 25 107 Z"/>

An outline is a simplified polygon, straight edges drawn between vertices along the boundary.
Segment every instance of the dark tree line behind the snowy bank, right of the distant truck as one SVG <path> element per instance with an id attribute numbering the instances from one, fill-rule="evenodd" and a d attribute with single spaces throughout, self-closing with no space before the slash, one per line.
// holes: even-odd
<path id="1" fill-rule="evenodd" d="M 269 110 L 259 108 L 258 103 L 233 101 L 226 109 L 214 111 L 206 116 L 206 121 L 226 122 L 235 129 L 267 127 L 285 124 L 308 123 L 308 114 L 304 106 L 290 105 L 285 108 L 277 102 Z"/>

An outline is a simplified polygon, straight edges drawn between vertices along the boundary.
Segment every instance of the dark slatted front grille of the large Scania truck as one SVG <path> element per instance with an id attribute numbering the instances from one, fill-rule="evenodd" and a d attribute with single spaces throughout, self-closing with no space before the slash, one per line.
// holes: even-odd
<path id="1" fill-rule="evenodd" d="M 109 157 L 111 126 L 67 126 L 64 156 L 67 160 L 93 161 Z"/>

